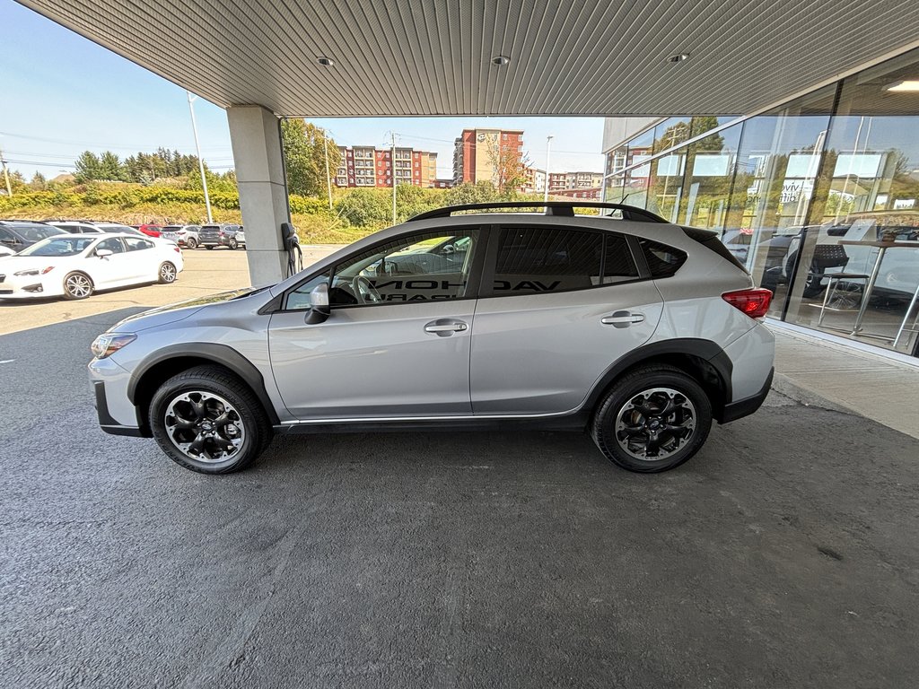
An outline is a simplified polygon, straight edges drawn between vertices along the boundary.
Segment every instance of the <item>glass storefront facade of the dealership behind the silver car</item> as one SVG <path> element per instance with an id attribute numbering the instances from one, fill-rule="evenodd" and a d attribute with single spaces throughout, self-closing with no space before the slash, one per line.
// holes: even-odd
<path id="1" fill-rule="evenodd" d="M 720 232 L 770 317 L 919 356 L 919 51 L 755 117 L 666 119 L 606 173 L 605 200 Z"/>

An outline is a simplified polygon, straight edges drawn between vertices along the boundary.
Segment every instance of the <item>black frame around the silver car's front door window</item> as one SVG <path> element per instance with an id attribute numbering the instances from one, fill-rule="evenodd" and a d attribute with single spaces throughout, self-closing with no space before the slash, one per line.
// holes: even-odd
<path id="1" fill-rule="evenodd" d="M 404 237 L 411 237 L 413 234 L 431 234 L 435 232 L 443 232 L 444 234 L 456 234 L 458 232 L 479 232 L 480 240 L 476 245 L 472 247 L 474 252 L 472 255 L 472 264 L 469 271 L 469 280 L 467 281 L 466 293 L 462 297 L 457 297 L 456 299 L 437 299 L 437 302 L 452 302 L 452 301 L 467 301 L 469 299 L 479 299 L 479 294 L 482 288 L 482 277 L 483 277 L 483 264 L 485 261 L 485 254 L 488 245 L 491 243 L 491 237 L 489 235 L 489 226 L 482 225 L 482 223 L 463 223 L 461 225 L 448 225 L 443 227 L 429 227 L 425 229 L 411 228 L 407 229 L 405 232 L 400 232 L 399 234 L 392 235 L 386 239 L 380 239 L 378 242 L 369 244 L 369 246 L 362 247 L 357 251 L 353 251 L 350 254 L 347 254 L 344 258 L 339 261 L 336 261 L 335 264 L 325 264 L 319 269 L 313 271 L 307 277 L 304 277 L 299 282 L 297 282 L 292 287 L 285 289 L 280 295 L 280 307 L 276 313 L 306 313 L 310 311 L 309 309 L 288 309 L 288 300 L 291 292 L 296 291 L 301 288 L 302 285 L 310 282 L 312 279 L 323 275 L 323 273 L 329 274 L 329 286 L 331 287 L 332 281 L 335 279 L 335 273 L 338 270 L 339 265 L 344 265 L 349 261 L 352 261 L 355 256 L 358 254 L 366 254 L 369 251 L 373 251 L 377 247 L 383 246 L 391 242 L 396 242 Z M 397 305 L 409 305 L 413 304 L 415 306 L 419 304 L 428 304 L 434 303 L 431 301 L 384 301 L 373 304 L 335 304 L 330 305 L 332 311 L 337 311 L 338 309 L 363 309 L 363 308 L 379 308 L 380 306 L 397 306 Z"/>

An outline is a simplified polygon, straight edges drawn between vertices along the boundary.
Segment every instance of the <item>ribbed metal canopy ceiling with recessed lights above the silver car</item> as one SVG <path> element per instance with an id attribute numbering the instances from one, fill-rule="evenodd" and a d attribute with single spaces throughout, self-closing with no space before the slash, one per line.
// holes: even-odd
<path id="1" fill-rule="evenodd" d="M 20 2 L 220 106 L 301 117 L 740 114 L 919 36 L 915 0 Z"/>

